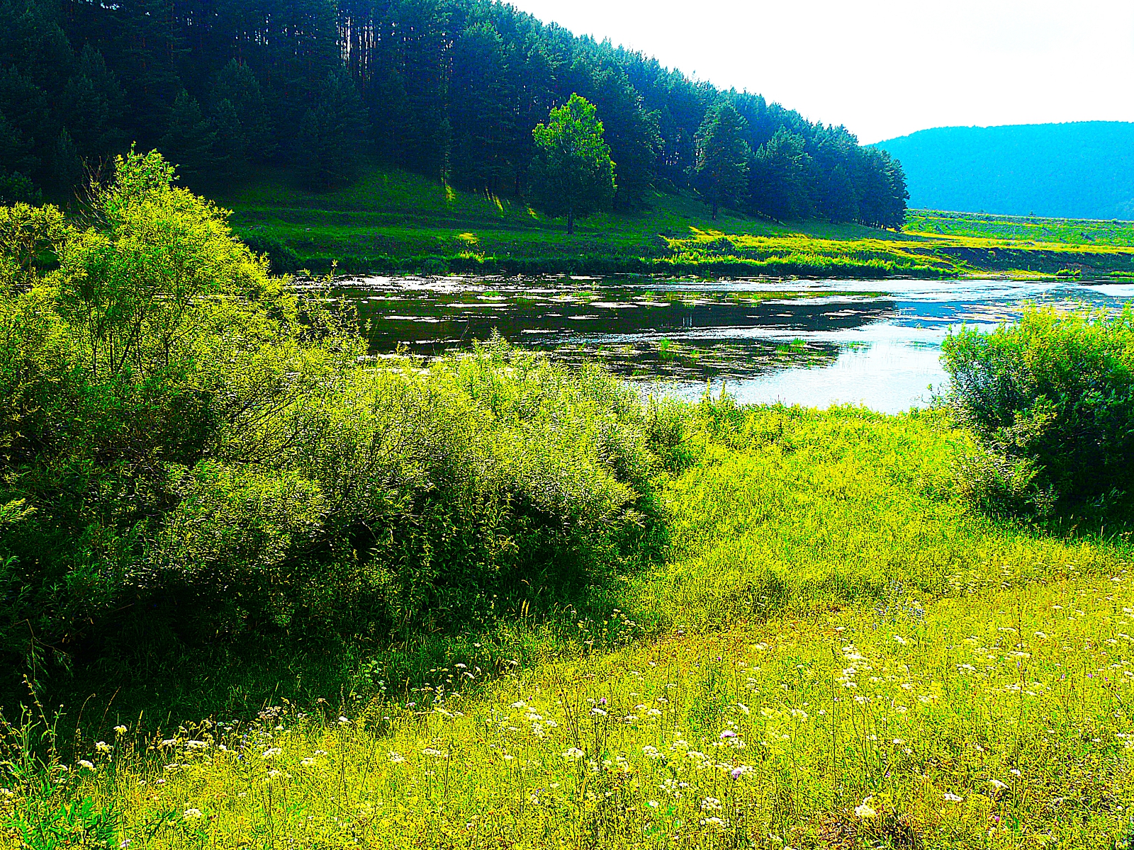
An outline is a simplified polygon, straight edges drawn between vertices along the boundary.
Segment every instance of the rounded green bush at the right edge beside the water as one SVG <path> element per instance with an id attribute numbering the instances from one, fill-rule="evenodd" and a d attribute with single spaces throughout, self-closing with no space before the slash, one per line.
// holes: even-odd
<path id="1" fill-rule="evenodd" d="M 974 495 L 1035 508 L 1134 484 L 1129 309 L 1106 317 L 1032 308 L 992 333 L 951 334 L 942 350 L 948 403 L 985 448 L 963 470 Z"/>

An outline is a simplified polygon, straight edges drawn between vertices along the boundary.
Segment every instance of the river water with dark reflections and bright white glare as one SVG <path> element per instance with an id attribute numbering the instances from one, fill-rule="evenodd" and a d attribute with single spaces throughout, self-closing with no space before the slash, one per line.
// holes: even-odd
<path id="1" fill-rule="evenodd" d="M 644 391 L 897 413 L 943 388 L 950 328 L 992 329 L 1029 303 L 1118 309 L 1134 284 L 362 278 L 336 294 L 356 303 L 376 354 L 435 356 L 498 331 L 568 363 L 599 359 Z"/>

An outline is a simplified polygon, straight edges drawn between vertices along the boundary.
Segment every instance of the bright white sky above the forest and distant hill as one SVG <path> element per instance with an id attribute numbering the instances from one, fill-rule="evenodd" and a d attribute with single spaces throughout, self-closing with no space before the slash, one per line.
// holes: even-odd
<path id="1" fill-rule="evenodd" d="M 928 127 L 1134 121 L 1131 0 L 509 1 L 866 144 Z"/>

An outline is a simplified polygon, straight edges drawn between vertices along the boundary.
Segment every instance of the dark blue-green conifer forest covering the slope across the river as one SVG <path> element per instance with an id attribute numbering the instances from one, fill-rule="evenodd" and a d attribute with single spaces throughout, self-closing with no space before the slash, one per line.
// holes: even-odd
<path id="1" fill-rule="evenodd" d="M 578 94 L 602 124 L 616 209 L 697 188 L 773 219 L 905 213 L 900 165 L 846 128 L 490 0 L 0 0 L 0 22 L 9 201 L 67 193 L 134 142 L 204 189 L 257 163 L 331 188 L 374 156 L 539 194 L 533 128 Z"/>

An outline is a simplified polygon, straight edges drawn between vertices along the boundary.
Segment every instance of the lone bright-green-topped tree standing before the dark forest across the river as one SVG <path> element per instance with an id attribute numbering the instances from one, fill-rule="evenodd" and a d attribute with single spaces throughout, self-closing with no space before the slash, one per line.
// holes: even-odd
<path id="1" fill-rule="evenodd" d="M 545 212 L 567 216 L 568 233 L 576 216 L 607 210 L 615 199 L 615 163 L 602 134 L 594 104 L 577 94 L 532 130 L 532 187 Z"/>

